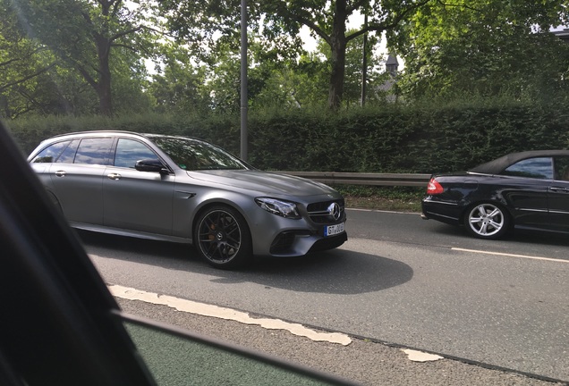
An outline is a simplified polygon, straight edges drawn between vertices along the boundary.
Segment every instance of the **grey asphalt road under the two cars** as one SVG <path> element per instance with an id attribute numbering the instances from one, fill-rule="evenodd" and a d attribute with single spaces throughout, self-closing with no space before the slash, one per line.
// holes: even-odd
<path id="1" fill-rule="evenodd" d="M 457 372 L 470 384 L 569 382 L 569 239 L 516 233 L 506 240 L 478 240 L 460 229 L 423 221 L 418 214 L 355 210 L 349 212 L 346 227 L 350 239 L 342 248 L 299 259 L 259 259 L 239 272 L 210 268 L 187 246 L 87 233 L 81 236 L 109 284 L 341 331 L 355 339 L 350 349 L 362 342 L 380 342 L 373 351 L 380 346 L 381 350 L 396 350 L 377 359 L 385 364 L 401 356 L 399 348 L 448 358 L 417 369 L 422 384 L 462 383 L 454 378 Z M 166 321 L 171 323 L 179 319 L 160 308 L 164 306 L 121 302 L 132 313 L 156 318 L 168 315 Z M 207 323 L 186 325 L 206 324 L 215 325 L 214 333 L 222 329 L 211 318 Z M 242 331 L 243 336 L 250 333 Z M 286 333 L 282 334 L 277 334 L 280 339 L 273 346 L 286 341 Z M 249 337 L 240 342 L 234 335 L 225 339 L 255 341 Z M 302 346 L 299 342 L 292 345 L 293 352 Z M 264 343 L 256 347 L 286 356 L 281 352 L 285 348 L 266 348 Z M 369 346 L 363 347 L 363 351 L 352 353 L 361 356 L 361 361 L 349 361 L 350 355 L 344 352 L 337 358 L 338 365 L 327 368 L 320 364 L 319 368 L 335 371 L 345 362 L 357 369 L 354 373 L 361 373 L 365 370 L 356 364 L 367 363 L 363 353 L 369 350 Z M 307 349 L 307 356 L 310 349 L 317 350 Z M 315 365 L 310 362 L 314 358 L 298 360 Z M 379 368 L 410 366 L 404 355 L 401 360 Z M 468 371 L 463 367 L 441 369 L 449 360 L 459 367 L 477 365 L 470 365 Z M 473 369 L 492 372 L 488 368 L 498 370 L 471 373 Z M 387 372 L 386 378 L 375 367 L 367 369 L 369 377 L 353 375 L 352 379 L 366 384 L 379 384 L 378 379 L 385 381 L 381 384 L 417 383 L 413 377 L 398 378 L 401 371 Z M 506 369 L 514 373 L 503 371 Z M 348 370 L 336 373 L 351 377 Z M 492 378 L 496 371 L 505 378 Z"/>

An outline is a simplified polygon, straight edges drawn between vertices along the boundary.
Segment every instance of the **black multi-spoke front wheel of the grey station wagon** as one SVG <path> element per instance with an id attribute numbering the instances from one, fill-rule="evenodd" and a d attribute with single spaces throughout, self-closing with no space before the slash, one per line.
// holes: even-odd
<path id="1" fill-rule="evenodd" d="M 251 260 L 249 227 L 229 206 L 214 206 L 200 214 L 194 244 L 200 256 L 217 268 L 235 268 Z"/>

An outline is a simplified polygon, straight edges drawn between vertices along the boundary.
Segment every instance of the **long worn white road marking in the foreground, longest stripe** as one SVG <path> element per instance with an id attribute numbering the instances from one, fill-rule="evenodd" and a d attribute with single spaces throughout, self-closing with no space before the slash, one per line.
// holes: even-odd
<path id="1" fill-rule="evenodd" d="M 327 341 L 330 343 L 338 343 L 347 346 L 352 343 L 352 339 L 348 335 L 339 332 L 318 332 L 310 330 L 298 323 L 288 323 L 279 319 L 268 318 L 252 318 L 249 314 L 237 311 L 231 308 L 207 305 L 191 300 L 174 298 L 166 295 L 158 295 L 157 293 L 136 290 L 120 285 L 110 285 L 108 289 L 111 294 L 117 298 L 125 298 L 129 300 L 140 300 L 146 303 L 169 306 L 177 311 L 187 312 L 196 315 L 217 317 L 225 320 L 233 320 L 244 324 L 258 324 L 268 330 L 285 330 L 293 335 L 303 336 L 310 340 Z"/>

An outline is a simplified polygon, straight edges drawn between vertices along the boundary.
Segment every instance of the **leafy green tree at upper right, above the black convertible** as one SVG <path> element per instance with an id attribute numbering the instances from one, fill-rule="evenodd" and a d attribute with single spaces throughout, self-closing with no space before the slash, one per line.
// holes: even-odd
<path id="1" fill-rule="evenodd" d="M 543 97 L 566 83 L 569 46 L 548 33 L 565 1 L 447 0 L 418 10 L 390 41 L 408 97 Z"/>

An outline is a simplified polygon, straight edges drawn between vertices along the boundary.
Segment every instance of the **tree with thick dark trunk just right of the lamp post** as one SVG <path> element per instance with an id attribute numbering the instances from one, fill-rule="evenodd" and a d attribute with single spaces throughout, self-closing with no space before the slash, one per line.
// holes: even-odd
<path id="1" fill-rule="evenodd" d="M 346 48 L 348 43 L 368 32 L 396 29 L 399 23 L 417 9 L 434 0 L 262 0 L 250 2 L 251 28 L 260 30 L 275 44 L 283 43 L 277 37 L 293 37 L 292 46 L 300 47 L 298 34 L 302 26 L 323 39 L 330 47 L 328 105 L 337 109 L 344 96 Z M 193 44 L 215 38 L 235 36 L 240 25 L 238 0 L 208 2 L 206 0 L 165 0 L 161 2 L 169 18 L 169 26 L 179 38 Z M 354 14 L 367 13 L 369 22 L 360 29 L 346 30 L 348 19 Z M 215 33 L 217 31 L 217 34 Z M 239 40 L 234 39 L 233 44 Z M 199 44 L 196 45 L 199 47 Z M 286 47 L 291 47 L 290 42 Z"/>

